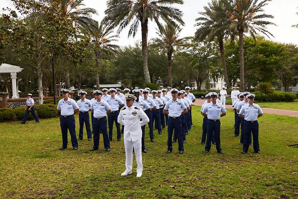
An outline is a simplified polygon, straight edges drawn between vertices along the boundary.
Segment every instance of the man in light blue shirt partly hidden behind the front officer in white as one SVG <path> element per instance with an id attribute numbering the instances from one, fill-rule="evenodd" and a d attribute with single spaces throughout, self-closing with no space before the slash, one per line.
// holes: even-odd
<path id="1" fill-rule="evenodd" d="M 139 98 L 141 91 L 138 89 L 135 89 L 132 92 L 133 92 L 133 95 L 136 96 L 136 100 L 134 101 L 134 106 L 141 108 L 146 113 L 147 117 L 148 115 L 150 115 L 151 117 L 151 114 L 149 114 L 151 111 L 149 104 L 147 104 L 147 102 Z M 142 152 L 147 153 L 147 150 L 145 147 L 145 125 L 141 126 L 141 129 L 142 129 Z M 151 139 L 151 142 L 154 142 L 154 139 Z"/>

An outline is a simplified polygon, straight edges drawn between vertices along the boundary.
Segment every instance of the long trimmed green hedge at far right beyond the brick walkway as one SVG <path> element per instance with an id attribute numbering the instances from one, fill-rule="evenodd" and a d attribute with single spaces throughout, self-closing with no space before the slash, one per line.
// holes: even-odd
<path id="1" fill-rule="evenodd" d="M 265 94 L 263 92 L 252 92 L 256 95 L 254 98 L 258 102 L 280 102 L 280 101 L 293 101 L 296 99 L 296 95 L 291 92 L 274 91 L 272 93 Z"/>

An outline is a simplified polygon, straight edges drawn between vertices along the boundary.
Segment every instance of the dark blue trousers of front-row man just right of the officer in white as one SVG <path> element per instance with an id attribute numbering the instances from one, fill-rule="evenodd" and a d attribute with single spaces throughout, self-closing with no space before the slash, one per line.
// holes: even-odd
<path id="1" fill-rule="evenodd" d="M 173 136 L 173 130 L 175 129 L 176 135 L 178 138 L 178 150 L 179 151 L 184 151 L 184 146 L 183 146 L 183 140 L 182 140 L 182 121 L 181 117 L 176 117 L 176 119 L 169 117 L 168 120 L 168 150 L 172 151 L 173 150 L 173 145 L 172 145 L 172 136 Z"/>

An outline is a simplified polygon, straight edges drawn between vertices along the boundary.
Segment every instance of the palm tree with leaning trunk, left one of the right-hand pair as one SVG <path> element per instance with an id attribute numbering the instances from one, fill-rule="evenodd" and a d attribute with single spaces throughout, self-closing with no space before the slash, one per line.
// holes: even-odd
<path id="1" fill-rule="evenodd" d="M 199 28 L 195 32 L 195 40 L 211 42 L 214 39 L 219 44 L 219 50 L 221 52 L 221 62 L 224 70 L 224 80 L 227 87 L 230 87 L 230 81 L 228 72 L 226 69 L 226 58 L 224 55 L 224 38 L 230 35 L 229 16 L 226 15 L 226 10 L 223 7 L 223 3 L 218 0 L 212 0 L 208 3 L 208 6 L 204 6 L 204 12 L 199 12 L 202 17 L 197 18 L 195 21 L 199 21 L 196 26 Z"/>

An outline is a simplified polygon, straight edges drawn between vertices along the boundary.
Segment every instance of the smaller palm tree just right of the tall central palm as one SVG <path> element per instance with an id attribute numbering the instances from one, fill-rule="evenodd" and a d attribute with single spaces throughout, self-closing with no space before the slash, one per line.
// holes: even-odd
<path id="1" fill-rule="evenodd" d="M 152 40 L 154 43 L 151 45 L 152 47 L 158 47 L 159 49 L 165 51 L 167 53 L 168 57 L 168 80 L 169 80 L 169 86 L 172 87 L 172 55 L 175 51 L 176 46 L 181 46 L 182 39 L 178 38 L 179 34 L 181 32 L 180 27 L 170 27 L 169 25 L 163 26 L 161 29 L 159 29 L 159 32 L 156 32 L 156 34 L 159 36 L 159 38 L 153 38 Z"/>

